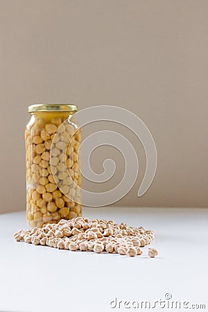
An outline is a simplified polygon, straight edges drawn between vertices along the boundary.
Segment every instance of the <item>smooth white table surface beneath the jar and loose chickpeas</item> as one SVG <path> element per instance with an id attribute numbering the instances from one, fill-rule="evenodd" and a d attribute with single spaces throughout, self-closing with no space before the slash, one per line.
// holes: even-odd
<path id="1" fill-rule="evenodd" d="M 208 209 L 83 210 L 89 218 L 153 229 L 151 245 L 159 251 L 158 257 L 146 256 L 147 248 L 144 255 L 130 258 L 17 243 L 12 234 L 26 228 L 24 211 L 1 214 L 0 311 L 139 311 L 132 309 L 133 301 L 154 305 L 161 299 L 167 304 L 166 293 L 172 295 L 170 302 L 206 304 L 197 311 L 208 311 Z M 118 301 L 122 301 L 120 308 Z M 159 306 L 151 310 L 187 311 Z"/>

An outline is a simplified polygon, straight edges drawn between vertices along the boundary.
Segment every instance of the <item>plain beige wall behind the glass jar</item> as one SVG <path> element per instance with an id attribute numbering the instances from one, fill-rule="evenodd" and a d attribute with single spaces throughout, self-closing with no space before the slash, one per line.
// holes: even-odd
<path id="1" fill-rule="evenodd" d="M 117 205 L 206 207 L 207 21 L 206 0 L 0 0 L 0 212 L 25 207 L 26 108 L 47 102 L 117 105 L 148 125 L 158 166 L 142 198 L 135 136 L 107 123 L 83 130 L 117 129 L 139 154 L 135 187 Z M 122 157 L 101 148 L 92 158 L 101 172 L 110 155 L 117 171 L 105 189 L 122 176 Z"/>

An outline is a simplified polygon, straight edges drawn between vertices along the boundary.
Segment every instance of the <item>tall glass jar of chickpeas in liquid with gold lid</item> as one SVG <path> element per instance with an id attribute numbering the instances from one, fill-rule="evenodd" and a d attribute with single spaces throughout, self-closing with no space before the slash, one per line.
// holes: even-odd
<path id="1" fill-rule="evenodd" d="M 76 105 L 68 104 L 28 107 L 26 218 L 30 227 L 82 216 L 76 111 Z"/>

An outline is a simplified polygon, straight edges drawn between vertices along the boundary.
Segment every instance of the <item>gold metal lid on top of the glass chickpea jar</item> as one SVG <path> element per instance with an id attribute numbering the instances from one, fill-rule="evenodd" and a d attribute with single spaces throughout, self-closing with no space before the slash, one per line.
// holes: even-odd
<path id="1" fill-rule="evenodd" d="M 28 112 L 77 112 L 78 107 L 73 104 L 34 104 L 28 106 Z"/>

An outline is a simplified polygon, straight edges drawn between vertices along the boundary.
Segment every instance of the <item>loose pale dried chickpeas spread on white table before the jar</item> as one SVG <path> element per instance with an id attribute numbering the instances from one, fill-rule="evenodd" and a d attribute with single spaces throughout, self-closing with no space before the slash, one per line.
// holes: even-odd
<path id="1" fill-rule="evenodd" d="M 155 235 L 144 227 L 128 227 L 125 223 L 116 224 L 113 220 L 89 220 L 77 217 L 71 220 L 60 220 L 59 223 L 48 223 L 42 228 L 20 229 L 14 234 L 16 241 L 33 245 L 127 254 L 130 257 L 141 255 L 141 248 L 149 245 Z M 155 257 L 157 250 L 148 249 L 148 255 Z"/>

